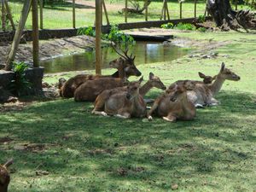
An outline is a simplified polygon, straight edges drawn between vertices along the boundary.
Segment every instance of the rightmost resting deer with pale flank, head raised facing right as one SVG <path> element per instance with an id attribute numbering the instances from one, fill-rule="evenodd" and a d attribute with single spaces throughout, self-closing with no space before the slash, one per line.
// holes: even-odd
<path id="1" fill-rule="evenodd" d="M 216 106 L 219 102 L 214 98 L 214 96 L 216 96 L 219 90 L 221 90 L 224 81 L 239 81 L 240 79 L 241 78 L 236 75 L 236 73 L 233 73 L 230 69 L 226 68 L 223 62 L 221 64 L 220 71 L 216 75 L 215 81 L 212 84 L 192 84 L 192 89 L 188 89 L 187 96 L 189 101 L 195 104 L 195 107 L 204 108 L 204 106 Z M 166 91 L 172 91 L 173 87 L 174 85 L 171 84 Z"/>

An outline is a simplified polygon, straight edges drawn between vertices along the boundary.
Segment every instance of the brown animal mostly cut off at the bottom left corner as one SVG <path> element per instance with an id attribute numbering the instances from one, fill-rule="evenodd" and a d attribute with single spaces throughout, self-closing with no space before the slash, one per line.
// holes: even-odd
<path id="1" fill-rule="evenodd" d="M 13 164 L 13 160 L 8 160 L 3 166 L 0 165 L 0 192 L 8 192 L 10 176 L 7 168 Z"/>

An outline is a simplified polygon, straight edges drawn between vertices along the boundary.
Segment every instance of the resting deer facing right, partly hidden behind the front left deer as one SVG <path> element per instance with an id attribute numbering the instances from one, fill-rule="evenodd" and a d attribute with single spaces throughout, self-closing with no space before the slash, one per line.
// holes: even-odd
<path id="1" fill-rule="evenodd" d="M 166 86 L 165 86 L 165 84 L 163 84 L 161 82 L 160 78 L 158 76 L 155 76 L 154 73 L 150 72 L 148 81 L 145 84 L 143 84 L 143 86 L 139 89 L 139 94 L 142 97 L 144 97 L 148 93 L 148 91 L 154 87 L 161 89 L 161 90 L 166 90 Z M 94 104 L 95 107 L 91 113 L 105 114 L 104 113 L 104 105 L 105 105 L 105 102 L 107 102 L 107 100 L 109 99 L 109 97 L 114 94 L 124 92 L 127 90 L 128 90 L 128 86 L 117 87 L 112 90 L 102 91 L 102 93 L 96 97 L 96 102 Z"/>

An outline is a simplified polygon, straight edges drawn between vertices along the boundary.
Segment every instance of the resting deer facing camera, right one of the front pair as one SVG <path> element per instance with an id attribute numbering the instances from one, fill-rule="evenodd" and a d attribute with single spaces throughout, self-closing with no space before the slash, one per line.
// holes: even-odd
<path id="1" fill-rule="evenodd" d="M 176 87 L 170 93 L 159 96 L 148 112 L 148 119 L 152 119 L 152 113 L 156 113 L 167 121 L 192 120 L 195 118 L 195 106 L 187 98 L 187 90 L 182 85 Z"/>

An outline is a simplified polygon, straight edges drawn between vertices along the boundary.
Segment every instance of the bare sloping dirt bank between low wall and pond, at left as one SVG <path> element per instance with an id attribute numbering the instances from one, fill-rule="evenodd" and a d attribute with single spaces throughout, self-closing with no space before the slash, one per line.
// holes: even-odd
<path id="1" fill-rule="evenodd" d="M 92 49 L 93 47 L 95 47 L 95 38 L 85 35 L 42 40 L 39 44 L 39 58 L 43 61 L 60 55 L 81 52 L 84 49 Z M 10 44 L 0 45 L 0 65 L 3 65 L 6 61 L 9 48 Z M 32 42 L 20 44 L 15 60 L 32 61 Z"/>

